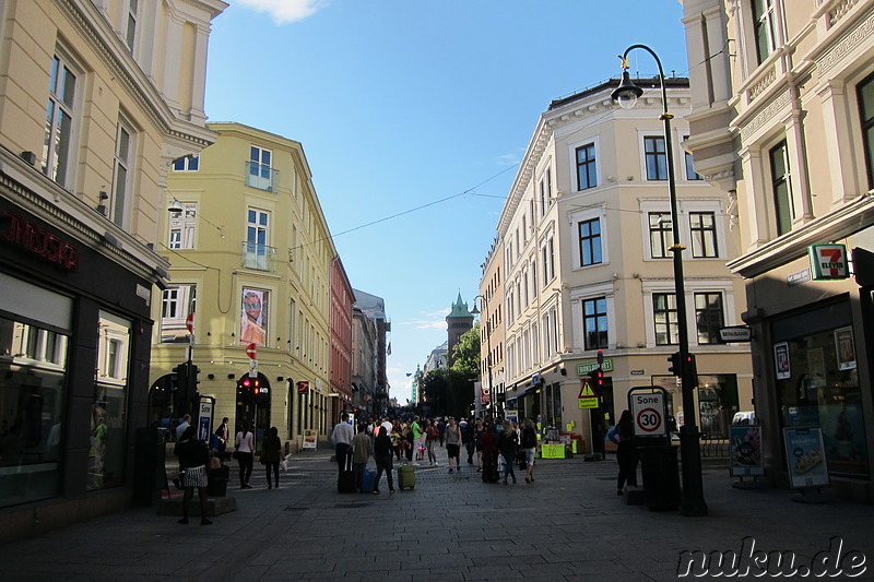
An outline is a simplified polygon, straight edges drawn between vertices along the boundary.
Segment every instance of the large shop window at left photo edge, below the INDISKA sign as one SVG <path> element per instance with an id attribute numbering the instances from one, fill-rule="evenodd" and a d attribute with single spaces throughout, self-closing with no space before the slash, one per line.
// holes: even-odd
<path id="1" fill-rule="evenodd" d="M 0 507 L 60 494 L 68 336 L 0 317 Z"/>

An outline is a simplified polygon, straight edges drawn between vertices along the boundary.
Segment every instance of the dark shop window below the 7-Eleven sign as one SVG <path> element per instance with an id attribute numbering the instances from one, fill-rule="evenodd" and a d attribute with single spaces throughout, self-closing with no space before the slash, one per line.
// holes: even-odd
<path id="1" fill-rule="evenodd" d="M 867 477 L 851 321 L 845 302 L 775 323 L 773 361 L 782 426 L 820 427 L 829 474 Z"/>

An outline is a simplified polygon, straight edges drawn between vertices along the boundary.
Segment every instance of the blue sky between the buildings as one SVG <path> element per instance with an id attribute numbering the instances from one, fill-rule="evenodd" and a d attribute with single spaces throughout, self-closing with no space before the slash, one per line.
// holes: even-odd
<path id="1" fill-rule="evenodd" d="M 352 286 L 386 301 L 388 379 L 473 309 L 518 165 L 552 99 L 651 47 L 688 72 L 677 0 L 231 0 L 213 21 L 206 115 L 303 144 Z M 654 60 L 631 52 L 631 72 Z"/>

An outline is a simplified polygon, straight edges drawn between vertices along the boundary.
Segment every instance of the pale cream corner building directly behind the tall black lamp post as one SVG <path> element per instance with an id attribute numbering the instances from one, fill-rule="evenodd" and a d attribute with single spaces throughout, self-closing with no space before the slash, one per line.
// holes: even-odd
<path id="1" fill-rule="evenodd" d="M 653 85 L 654 82 L 654 85 Z M 660 385 L 684 414 L 668 358 L 677 351 L 666 154 L 658 79 L 634 109 L 610 94 L 617 80 L 554 100 L 541 115 L 498 223 L 508 406 L 582 437 L 599 450 L 633 387 Z M 673 141 L 688 129 L 688 80 L 668 79 Z M 697 356 L 698 426 L 727 438 L 751 407 L 748 346 L 722 344 L 741 323 L 743 285 L 725 263 L 739 254 L 724 192 L 674 149 L 689 349 Z M 581 409 L 582 381 L 604 356 L 600 412 Z"/>

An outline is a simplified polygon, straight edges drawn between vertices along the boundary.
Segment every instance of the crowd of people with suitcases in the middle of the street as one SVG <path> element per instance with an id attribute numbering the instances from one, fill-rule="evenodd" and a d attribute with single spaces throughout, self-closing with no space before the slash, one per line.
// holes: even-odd
<path id="1" fill-rule="evenodd" d="M 338 486 L 345 471 L 352 471 L 356 490 L 362 489 L 362 475 L 373 455 L 377 476 L 374 492 L 379 494 L 382 473 L 387 475 L 389 492 L 394 492 L 392 468 L 394 460 L 408 463 L 425 461 L 438 466 L 436 448 L 446 448 L 449 473 L 460 472 L 462 448 L 466 452 L 468 465 L 482 473 L 483 482 L 507 485 L 510 479 L 517 483 L 515 465 L 524 467 L 525 483 L 534 483 L 534 454 L 538 435 L 534 424 L 527 419 L 520 427 L 518 423 L 504 419 L 477 418 L 474 424 L 466 418 L 456 421 L 454 417 L 425 418 L 414 416 L 410 419 L 370 418 L 357 424 L 357 430 L 343 413 L 333 431 L 331 443 L 338 463 Z M 501 462 L 503 461 L 503 462 Z M 503 466 L 503 477 L 499 467 Z"/>

